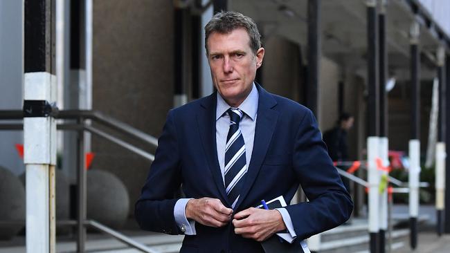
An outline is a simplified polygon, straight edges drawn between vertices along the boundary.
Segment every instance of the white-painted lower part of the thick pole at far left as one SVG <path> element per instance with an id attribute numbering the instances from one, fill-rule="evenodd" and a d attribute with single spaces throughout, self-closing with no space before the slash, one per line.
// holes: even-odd
<path id="1" fill-rule="evenodd" d="M 55 76 L 46 72 L 25 73 L 24 100 L 54 102 Z M 31 108 L 24 108 L 30 110 Z M 31 109 L 33 110 L 33 109 Z M 30 112 L 31 113 L 31 112 Z M 52 117 L 24 118 L 24 163 L 26 165 L 26 252 L 47 253 L 54 249 L 54 194 L 56 124 Z M 54 184 L 52 184 L 54 186 Z M 53 241 L 54 242 L 54 241 Z"/>

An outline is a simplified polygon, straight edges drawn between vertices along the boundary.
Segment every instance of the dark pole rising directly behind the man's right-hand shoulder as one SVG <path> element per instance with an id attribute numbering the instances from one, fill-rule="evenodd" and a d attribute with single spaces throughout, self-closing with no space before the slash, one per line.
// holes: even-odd
<path id="1" fill-rule="evenodd" d="M 319 68 L 321 66 L 321 1 L 308 0 L 308 82 L 307 107 L 320 125 Z"/>

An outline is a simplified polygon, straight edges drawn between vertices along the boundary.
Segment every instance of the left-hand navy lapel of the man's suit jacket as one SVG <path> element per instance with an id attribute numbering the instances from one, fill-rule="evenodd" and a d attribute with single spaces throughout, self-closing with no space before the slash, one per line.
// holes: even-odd
<path id="1" fill-rule="evenodd" d="M 197 122 L 199 124 L 201 144 L 208 160 L 209 169 L 217 189 L 222 195 L 222 199 L 228 203 L 228 197 L 226 196 L 224 181 L 222 179 L 222 172 L 220 171 L 219 160 L 217 158 L 217 145 L 216 145 L 216 129 L 215 129 L 215 110 L 217 106 L 216 93 L 213 93 L 201 102 L 201 110 L 197 114 Z M 231 203 L 228 203 L 231 206 Z"/>

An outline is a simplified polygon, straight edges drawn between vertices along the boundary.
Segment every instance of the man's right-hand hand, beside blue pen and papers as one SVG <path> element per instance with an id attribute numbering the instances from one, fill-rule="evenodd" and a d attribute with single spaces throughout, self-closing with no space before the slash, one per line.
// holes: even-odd
<path id="1" fill-rule="evenodd" d="M 286 229 L 280 212 L 250 207 L 235 214 L 235 234 L 255 241 L 264 241 L 272 234 Z"/>

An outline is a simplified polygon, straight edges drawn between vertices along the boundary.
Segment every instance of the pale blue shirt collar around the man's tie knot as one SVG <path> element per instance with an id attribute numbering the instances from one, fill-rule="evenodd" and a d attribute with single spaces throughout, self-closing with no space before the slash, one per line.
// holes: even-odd
<path id="1" fill-rule="evenodd" d="M 259 94 L 258 89 L 255 86 L 255 83 L 253 82 L 253 86 L 251 87 L 250 94 L 246 97 L 244 102 L 237 107 L 241 109 L 251 120 L 255 120 L 256 113 L 258 112 L 258 100 L 259 100 Z M 222 115 L 226 112 L 226 110 L 230 109 L 231 106 L 226 104 L 224 98 L 217 92 L 217 107 L 215 111 L 215 120 L 219 120 Z"/>

